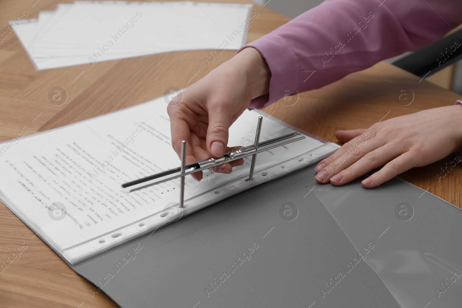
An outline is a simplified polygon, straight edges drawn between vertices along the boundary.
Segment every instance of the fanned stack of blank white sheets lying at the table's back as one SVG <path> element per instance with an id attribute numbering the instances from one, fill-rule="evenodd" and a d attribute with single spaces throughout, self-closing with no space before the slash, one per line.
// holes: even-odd
<path id="1" fill-rule="evenodd" d="M 251 8 L 195 1 L 75 1 L 10 24 L 40 70 L 177 50 L 238 49 L 255 19 Z"/>

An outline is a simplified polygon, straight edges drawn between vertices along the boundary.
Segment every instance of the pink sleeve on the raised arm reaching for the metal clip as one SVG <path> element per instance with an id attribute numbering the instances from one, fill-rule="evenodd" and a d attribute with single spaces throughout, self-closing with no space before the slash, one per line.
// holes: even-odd
<path id="1" fill-rule="evenodd" d="M 461 23 L 460 0 L 326 0 L 243 47 L 256 48 L 271 70 L 269 94 L 249 109 L 430 45 Z"/>

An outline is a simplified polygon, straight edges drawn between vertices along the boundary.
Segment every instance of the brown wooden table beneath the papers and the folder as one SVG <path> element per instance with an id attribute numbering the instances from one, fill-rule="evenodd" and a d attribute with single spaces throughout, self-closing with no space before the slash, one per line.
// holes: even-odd
<path id="1" fill-rule="evenodd" d="M 72 1 L 2 1 L 0 30 L 3 32 L 8 21 L 22 12 L 26 12 L 28 18 L 36 18 L 39 11 L 53 10 L 59 2 Z M 247 3 L 239 0 L 223 2 Z M 249 30 L 248 42 L 289 20 L 262 6 L 255 5 L 254 10 L 258 12 L 258 18 Z M 12 139 L 24 127 L 26 135 L 30 135 L 146 102 L 163 95 L 170 86 L 183 88 L 191 85 L 233 54 L 235 51 L 223 52 L 210 66 L 204 60 L 208 51 L 202 50 L 35 71 L 12 33 L 0 42 L 0 141 Z M 55 86 L 67 91 L 68 99 L 62 106 L 55 106 L 48 100 L 48 92 Z M 398 99 L 403 93 L 407 94 L 407 101 Z M 410 102 L 412 96 L 413 102 L 402 106 Z M 278 102 L 265 111 L 336 142 L 333 136 L 337 129 L 369 127 L 385 115 L 388 119 L 451 105 L 461 98 L 382 62 L 320 90 L 302 93 L 292 106 Z M 458 165 L 443 178 L 438 177 L 441 168 L 453 158 L 447 157 L 400 176 L 461 206 L 462 167 Z M 117 307 L 103 292 L 97 292 L 97 288 L 73 272 L 3 204 L 0 204 L 0 234 L 0 263 L 10 258 L 23 243 L 27 245 L 20 259 L 0 273 L 1 307 Z"/>

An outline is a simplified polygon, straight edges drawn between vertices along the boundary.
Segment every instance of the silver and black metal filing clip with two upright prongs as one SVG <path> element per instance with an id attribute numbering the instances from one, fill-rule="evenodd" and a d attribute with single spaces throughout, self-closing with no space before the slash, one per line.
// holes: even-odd
<path id="1" fill-rule="evenodd" d="M 225 153 L 223 157 L 220 158 L 208 158 L 195 163 L 186 164 L 186 141 L 182 141 L 181 146 L 181 167 L 170 169 L 157 173 L 155 175 L 149 175 L 144 178 L 134 180 L 128 183 L 122 184 L 122 189 L 128 193 L 140 190 L 152 185 L 163 183 L 166 181 L 171 181 L 177 178 L 180 178 L 180 207 L 184 206 L 184 177 L 186 175 L 193 174 L 198 171 L 209 169 L 212 167 L 219 166 L 223 163 L 231 163 L 237 159 L 247 157 L 252 155 L 252 162 L 250 163 L 250 172 L 249 177 L 245 181 L 250 181 L 254 176 L 255 162 L 258 153 L 263 151 L 268 151 L 274 149 L 281 145 L 286 145 L 294 141 L 305 139 L 305 136 L 298 132 L 289 133 L 280 137 L 269 139 L 263 142 L 260 142 L 261 134 L 261 123 L 263 118 L 258 117 L 257 130 L 255 133 L 255 142 L 254 145 L 249 145 L 243 148 L 240 148 L 235 151 Z"/>

